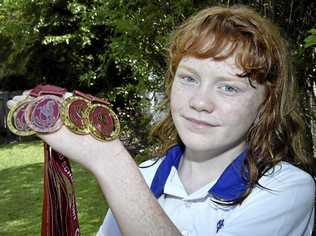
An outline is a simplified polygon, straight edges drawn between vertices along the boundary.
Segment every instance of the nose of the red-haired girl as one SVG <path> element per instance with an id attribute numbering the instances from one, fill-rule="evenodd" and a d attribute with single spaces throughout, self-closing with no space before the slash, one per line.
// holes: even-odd
<path id="1" fill-rule="evenodd" d="M 192 109 L 198 112 L 212 112 L 215 108 L 214 97 L 209 90 L 199 89 L 194 93 L 190 100 L 189 105 Z"/>

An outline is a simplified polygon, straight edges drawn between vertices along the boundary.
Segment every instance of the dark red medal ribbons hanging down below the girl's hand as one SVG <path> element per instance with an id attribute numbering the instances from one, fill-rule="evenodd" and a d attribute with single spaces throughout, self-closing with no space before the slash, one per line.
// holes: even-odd
<path id="1" fill-rule="evenodd" d="M 80 235 L 75 190 L 68 159 L 44 144 L 42 236 Z"/>

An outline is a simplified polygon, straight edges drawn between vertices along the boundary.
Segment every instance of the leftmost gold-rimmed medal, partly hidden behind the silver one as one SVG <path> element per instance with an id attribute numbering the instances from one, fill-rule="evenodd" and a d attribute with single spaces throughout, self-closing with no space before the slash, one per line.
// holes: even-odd
<path id="1" fill-rule="evenodd" d="M 35 132 L 27 125 L 25 120 L 26 107 L 30 99 L 19 102 L 13 107 L 7 116 L 7 125 L 9 130 L 19 136 L 33 135 Z"/>

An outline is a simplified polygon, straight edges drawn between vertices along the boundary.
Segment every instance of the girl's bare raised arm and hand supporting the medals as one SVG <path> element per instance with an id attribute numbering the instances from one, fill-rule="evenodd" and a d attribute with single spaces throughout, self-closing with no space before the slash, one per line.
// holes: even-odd
<path id="1" fill-rule="evenodd" d="M 123 235 L 180 235 L 119 140 L 104 143 L 65 127 L 40 137 L 96 176 Z"/>

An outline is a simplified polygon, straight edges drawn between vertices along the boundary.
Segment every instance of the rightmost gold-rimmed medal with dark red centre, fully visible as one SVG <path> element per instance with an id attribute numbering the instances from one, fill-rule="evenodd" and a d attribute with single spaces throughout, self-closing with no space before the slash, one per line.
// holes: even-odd
<path id="1" fill-rule="evenodd" d="M 103 104 L 93 104 L 87 109 L 90 134 L 101 141 L 110 141 L 118 137 L 120 123 L 116 114 Z"/>

